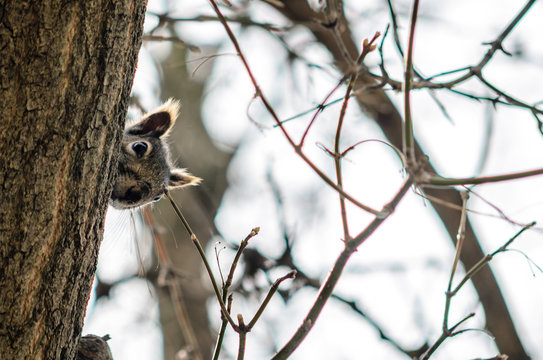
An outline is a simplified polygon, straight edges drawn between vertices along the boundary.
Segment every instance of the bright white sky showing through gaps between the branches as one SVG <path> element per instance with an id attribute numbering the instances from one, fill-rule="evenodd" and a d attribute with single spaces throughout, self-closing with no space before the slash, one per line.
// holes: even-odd
<path id="1" fill-rule="evenodd" d="M 359 44 L 376 31 L 383 33 L 390 23 L 385 1 L 345 3 L 347 18 L 354 24 L 353 32 L 359 37 Z M 476 64 L 487 50 L 483 43 L 495 39 L 524 3 L 422 1 L 414 48 L 417 69 L 430 76 Z M 405 46 L 411 2 L 393 1 L 393 4 L 399 14 L 400 36 Z M 170 9 L 172 16 L 180 17 L 212 14 L 208 2 L 203 0 L 149 2 L 149 10 L 153 12 L 162 13 L 166 9 Z M 498 53 L 484 70 L 485 77 L 497 87 L 530 104 L 543 97 L 540 85 L 543 83 L 543 46 L 539 39 L 542 10 L 542 5 L 536 3 L 504 42 L 506 49 L 522 56 Z M 249 11 L 257 20 L 283 24 L 281 18 L 262 3 L 251 2 Z M 149 16 L 147 29 L 153 26 L 153 21 Z M 236 25 L 232 28 L 264 94 L 281 118 L 314 107 L 336 85 L 338 75 L 329 56 L 310 43 L 307 32 L 293 31 L 288 37 L 289 44 L 322 69 L 300 64 L 286 66 L 284 49 L 263 30 L 241 29 Z M 218 53 L 234 53 L 219 24 L 184 22 L 176 30 L 193 44 L 219 44 Z M 140 54 L 134 93 L 149 109 L 160 103 L 160 72 L 155 64 L 165 58 L 169 46 L 146 43 Z M 403 62 L 391 37 L 385 41 L 384 54 L 390 76 L 401 80 Z M 367 64 L 375 72 L 378 72 L 378 63 L 378 54 L 370 54 Z M 237 147 L 228 168 L 229 188 L 215 219 L 216 226 L 229 241 L 239 241 L 249 229 L 260 226 L 258 240 L 251 246 L 274 257 L 282 251 L 279 224 L 285 221 L 289 233 L 296 239 L 293 251 L 297 264 L 311 276 L 324 279 L 343 247 L 337 194 L 292 151 L 282 134 L 272 127 L 265 109 L 251 101 L 254 91 L 237 57 L 215 58 L 206 84 L 202 107 L 206 129 L 221 146 Z M 476 81 L 461 88 L 493 96 Z M 341 89 L 332 98 L 343 93 Z M 388 94 L 398 109 L 403 108 L 401 94 L 392 91 Z M 493 108 L 450 92 L 437 92 L 436 96 L 445 104 L 448 116 L 425 91 L 413 93 L 412 108 L 415 134 L 440 174 L 451 177 L 496 175 L 542 167 L 543 135 L 529 111 L 500 105 Z M 305 147 L 307 155 L 330 176 L 334 174 L 333 160 L 322 151 L 322 145 L 330 148 L 333 144 L 340 104 L 322 113 Z M 248 114 L 261 126 L 255 126 Z M 287 129 L 300 136 L 309 119 L 309 116 L 299 117 L 289 122 Z M 385 140 L 378 127 L 354 102 L 348 108 L 345 124 L 344 148 L 360 140 Z M 405 180 L 398 157 L 379 142 L 358 146 L 344 160 L 343 169 L 348 193 L 377 209 L 392 198 Z M 270 173 L 281 192 L 284 219 L 278 217 Z M 468 203 L 470 209 L 482 213 L 470 214 L 470 221 L 486 252 L 499 248 L 520 230 L 518 225 L 500 218 L 487 202 L 518 223 L 538 221 L 540 224 L 514 242 L 511 248 L 515 251 L 500 254 L 492 261 L 492 270 L 505 294 L 519 335 L 534 359 L 543 358 L 540 335 L 543 333 L 543 307 L 540 306 L 543 274 L 534 265 L 543 265 L 542 187 L 541 176 L 481 185 L 474 188 L 481 198 L 472 196 Z M 372 219 L 351 205 L 347 211 L 352 234 L 364 229 Z M 115 280 L 137 269 L 134 237 L 140 240 L 145 237 L 145 231 L 138 226 L 129 213 L 108 211 L 99 276 Z M 122 238 L 119 234 L 123 234 Z M 140 250 L 145 258 L 150 251 L 145 244 L 149 242 L 139 243 L 143 244 Z M 212 249 L 209 254 L 213 254 Z M 411 191 L 397 211 L 353 255 L 336 292 L 366 309 L 402 346 L 415 348 L 425 339 L 435 339 L 440 334 L 444 292 L 453 257 L 448 235 L 430 205 Z M 226 266 L 230 259 L 224 255 L 221 261 Z M 462 272 L 460 269 L 456 279 Z M 267 284 L 262 274 L 257 276 L 257 281 L 262 286 Z M 292 336 L 314 297 L 315 291 L 302 289 L 287 305 L 280 298 L 274 298 L 249 335 L 246 358 L 269 358 L 274 347 L 282 346 Z M 252 314 L 257 305 L 254 299 L 237 296 L 234 313 Z M 212 314 L 218 313 L 217 304 L 212 300 L 209 309 Z M 468 284 L 453 299 L 451 319 L 461 319 L 472 311 L 476 315 L 466 326 L 482 327 L 482 308 Z M 115 359 L 162 356 L 156 297 L 142 280 L 130 280 L 116 288 L 110 301 L 89 308 L 87 315 L 84 333 L 109 333 Z M 218 316 L 211 319 L 216 328 L 218 319 Z M 331 339 L 331 332 L 340 332 L 341 336 Z M 270 335 L 275 342 L 270 340 Z M 235 358 L 236 349 L 237 337 L 230 333 L 225 354 L 231 356 L 225 359 Z M 488 334 L 474 331 L 448 340 L 432 359 L 494 355 L 496 349 Z M 291 358 L 406 359 L 406 356 L 380 341 L 379 334 L 365 320 L 344 305 L 330 301 L 317 325 Z"/>

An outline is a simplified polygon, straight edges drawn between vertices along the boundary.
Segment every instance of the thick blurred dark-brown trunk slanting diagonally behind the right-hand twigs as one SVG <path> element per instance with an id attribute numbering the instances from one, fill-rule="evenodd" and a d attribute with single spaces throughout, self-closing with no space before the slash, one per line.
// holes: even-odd
<path id="1" fill-rule="evenodd" d="M 329 24 L 330 20 L 326 20 L 322 14 L 315 13 L 305 0 L 283 1 L 283 4 L 284 7 L 278 8 L 278 10 L 294 23 L 307 26 L 317 41 L 332 54 L 338 69 L 343 72 L 349 71 L 349 65 L 344 59 L 336 38 L 333 36 L 331 30 L 324 26 Z M 341 31 L 341 39 L 349 56 L 352 59 L 356 59 L 359 51 L 350 32 L 349 24 L 343 14 L 337 14 L 337 23 L 335 26 Z M 373 78 L 365 75 L 359 77 L 356 87 L 365 88 L 368 85 L 375 84 L 376 82 Z M 402 117 L 385 92 L 382 89 L 364 91 L 357 96 L 356 100 L 361 108 L 381 127 L 390 143 L 401 149 Z M 416 153 L 418 156 L 422 154 L 418 144 Z M 461 206 L 462 204 L 459 193 L 452 188 L 441 190 L 427 189 L 425 192 L 450 204 L 457 206 Z M 437 203 L 432 202 L 432 205 L 450 234 L 451 240 L 455 242 L 460 220 L 459 212 Z M 468 221 L 461 260 L 466 268 L 470 268 L 483 256 L 484 253 L 479 245 L 477 236 Z M 472 282 L 485 310 L 487 329 L 495 337 L 495 342 L 500 352 L 507 354 L 512 359 L 528 359 L 529 357 L 520 342 L 511 315 L 490 268 L 483 268 L 473 277 Z"/>

